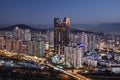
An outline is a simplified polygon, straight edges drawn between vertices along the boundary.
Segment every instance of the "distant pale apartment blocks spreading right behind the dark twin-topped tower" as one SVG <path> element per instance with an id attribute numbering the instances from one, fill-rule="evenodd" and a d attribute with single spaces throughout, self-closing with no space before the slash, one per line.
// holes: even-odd
<path id="1" fill-rule="evenodd" d="M 84 43 L 84 52 L 95 49 L 113 49 L 118 52 L 120 49 L 120 35 L 116 34 L 94 34 L 94 33 L 70 33 L 70 43 Z"/>

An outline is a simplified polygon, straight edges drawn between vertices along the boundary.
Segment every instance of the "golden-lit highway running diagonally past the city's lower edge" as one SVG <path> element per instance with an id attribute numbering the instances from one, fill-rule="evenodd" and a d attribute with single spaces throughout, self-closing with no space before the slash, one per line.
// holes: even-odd
<path id="1" fill-rule="evenodd" d="M 44 63 L 45 58 L 39 58 L 39 57 L 36 57 L 36 56 L 29 56 L 29 55 L 25 55 L 25 54 L 21 55 L 21 54 L 7 52 L 7 51 L 3 51 L 3 50 L 0 50 L 0 54 L 5 55 L 7 57 L 13 57 L 14 56 L 14 58 L 16 58 L 16 59 L 31 60 L 31 61 L 34 61 L 34 62 L 38 62 L 40 64 L 45 64 Z M 78 80 L 90 80 L 89 78 L 86 78 L 86 77 L 84 77 L 82 75 L 73 74 L 72 72 L 65 71 L 63 69 L 57 68 L 57 67 L 53 66 L 50 63 L 47 63 L 45 65 L 50 66 L 50 67 L 54 68 L 55 70 L 63 72 L 63 73 L 65 73 L 65 74 L 67 74 L 69 76 L 72 76 L 72 77 L 74 77 L 74 78 L 76 78 Z"/>

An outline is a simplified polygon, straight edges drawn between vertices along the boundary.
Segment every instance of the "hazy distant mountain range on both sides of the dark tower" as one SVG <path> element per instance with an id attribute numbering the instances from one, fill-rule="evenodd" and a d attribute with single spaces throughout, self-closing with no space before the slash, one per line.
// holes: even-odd
<path id="1" fill-rule="evenodd" d="M 21 29 L 30 29 L 31 31 L 46 32 L 48 29 L 53 30 L 54 25 L 24 25 L 17 24 L 10 27 L 0 27 L 0 31 L 11 31 L 16 26 Z M 89 32 L 89 33 L 120 33 L 120 22 L 118 23 L 101 23 L 101 24 L 71 24 L 71 32 Z"/>

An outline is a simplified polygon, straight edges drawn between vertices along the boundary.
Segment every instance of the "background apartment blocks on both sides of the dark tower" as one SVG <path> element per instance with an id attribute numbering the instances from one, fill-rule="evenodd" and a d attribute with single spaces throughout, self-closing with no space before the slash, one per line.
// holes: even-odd
<path id="1" fill-rule="evenodd" d="M 44 56 L 46 43 L 54 47 L 54 30 L 44 33 L 33 32 L 30 29 L 15 27 L 13 31 L 0 31 L 0 49 L 7 49 L 13 52 L 28 53 L 36 56 Z M 69 33 L 69 44 L 84 43 L 83 52 L 94 49 L 111 48 L 117 51 L 120 48 L 119 35 L 99 35 L 89 32 Z"/>

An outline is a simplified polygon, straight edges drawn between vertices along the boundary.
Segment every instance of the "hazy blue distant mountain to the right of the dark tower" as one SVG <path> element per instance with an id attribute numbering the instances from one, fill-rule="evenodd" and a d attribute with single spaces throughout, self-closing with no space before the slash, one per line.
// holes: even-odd
<path id="1" fill-rule="evenodd" d="M 71 27 L 92 32 L 120 33 L 120 22 L 100 24 L 73 24 Z"/>

